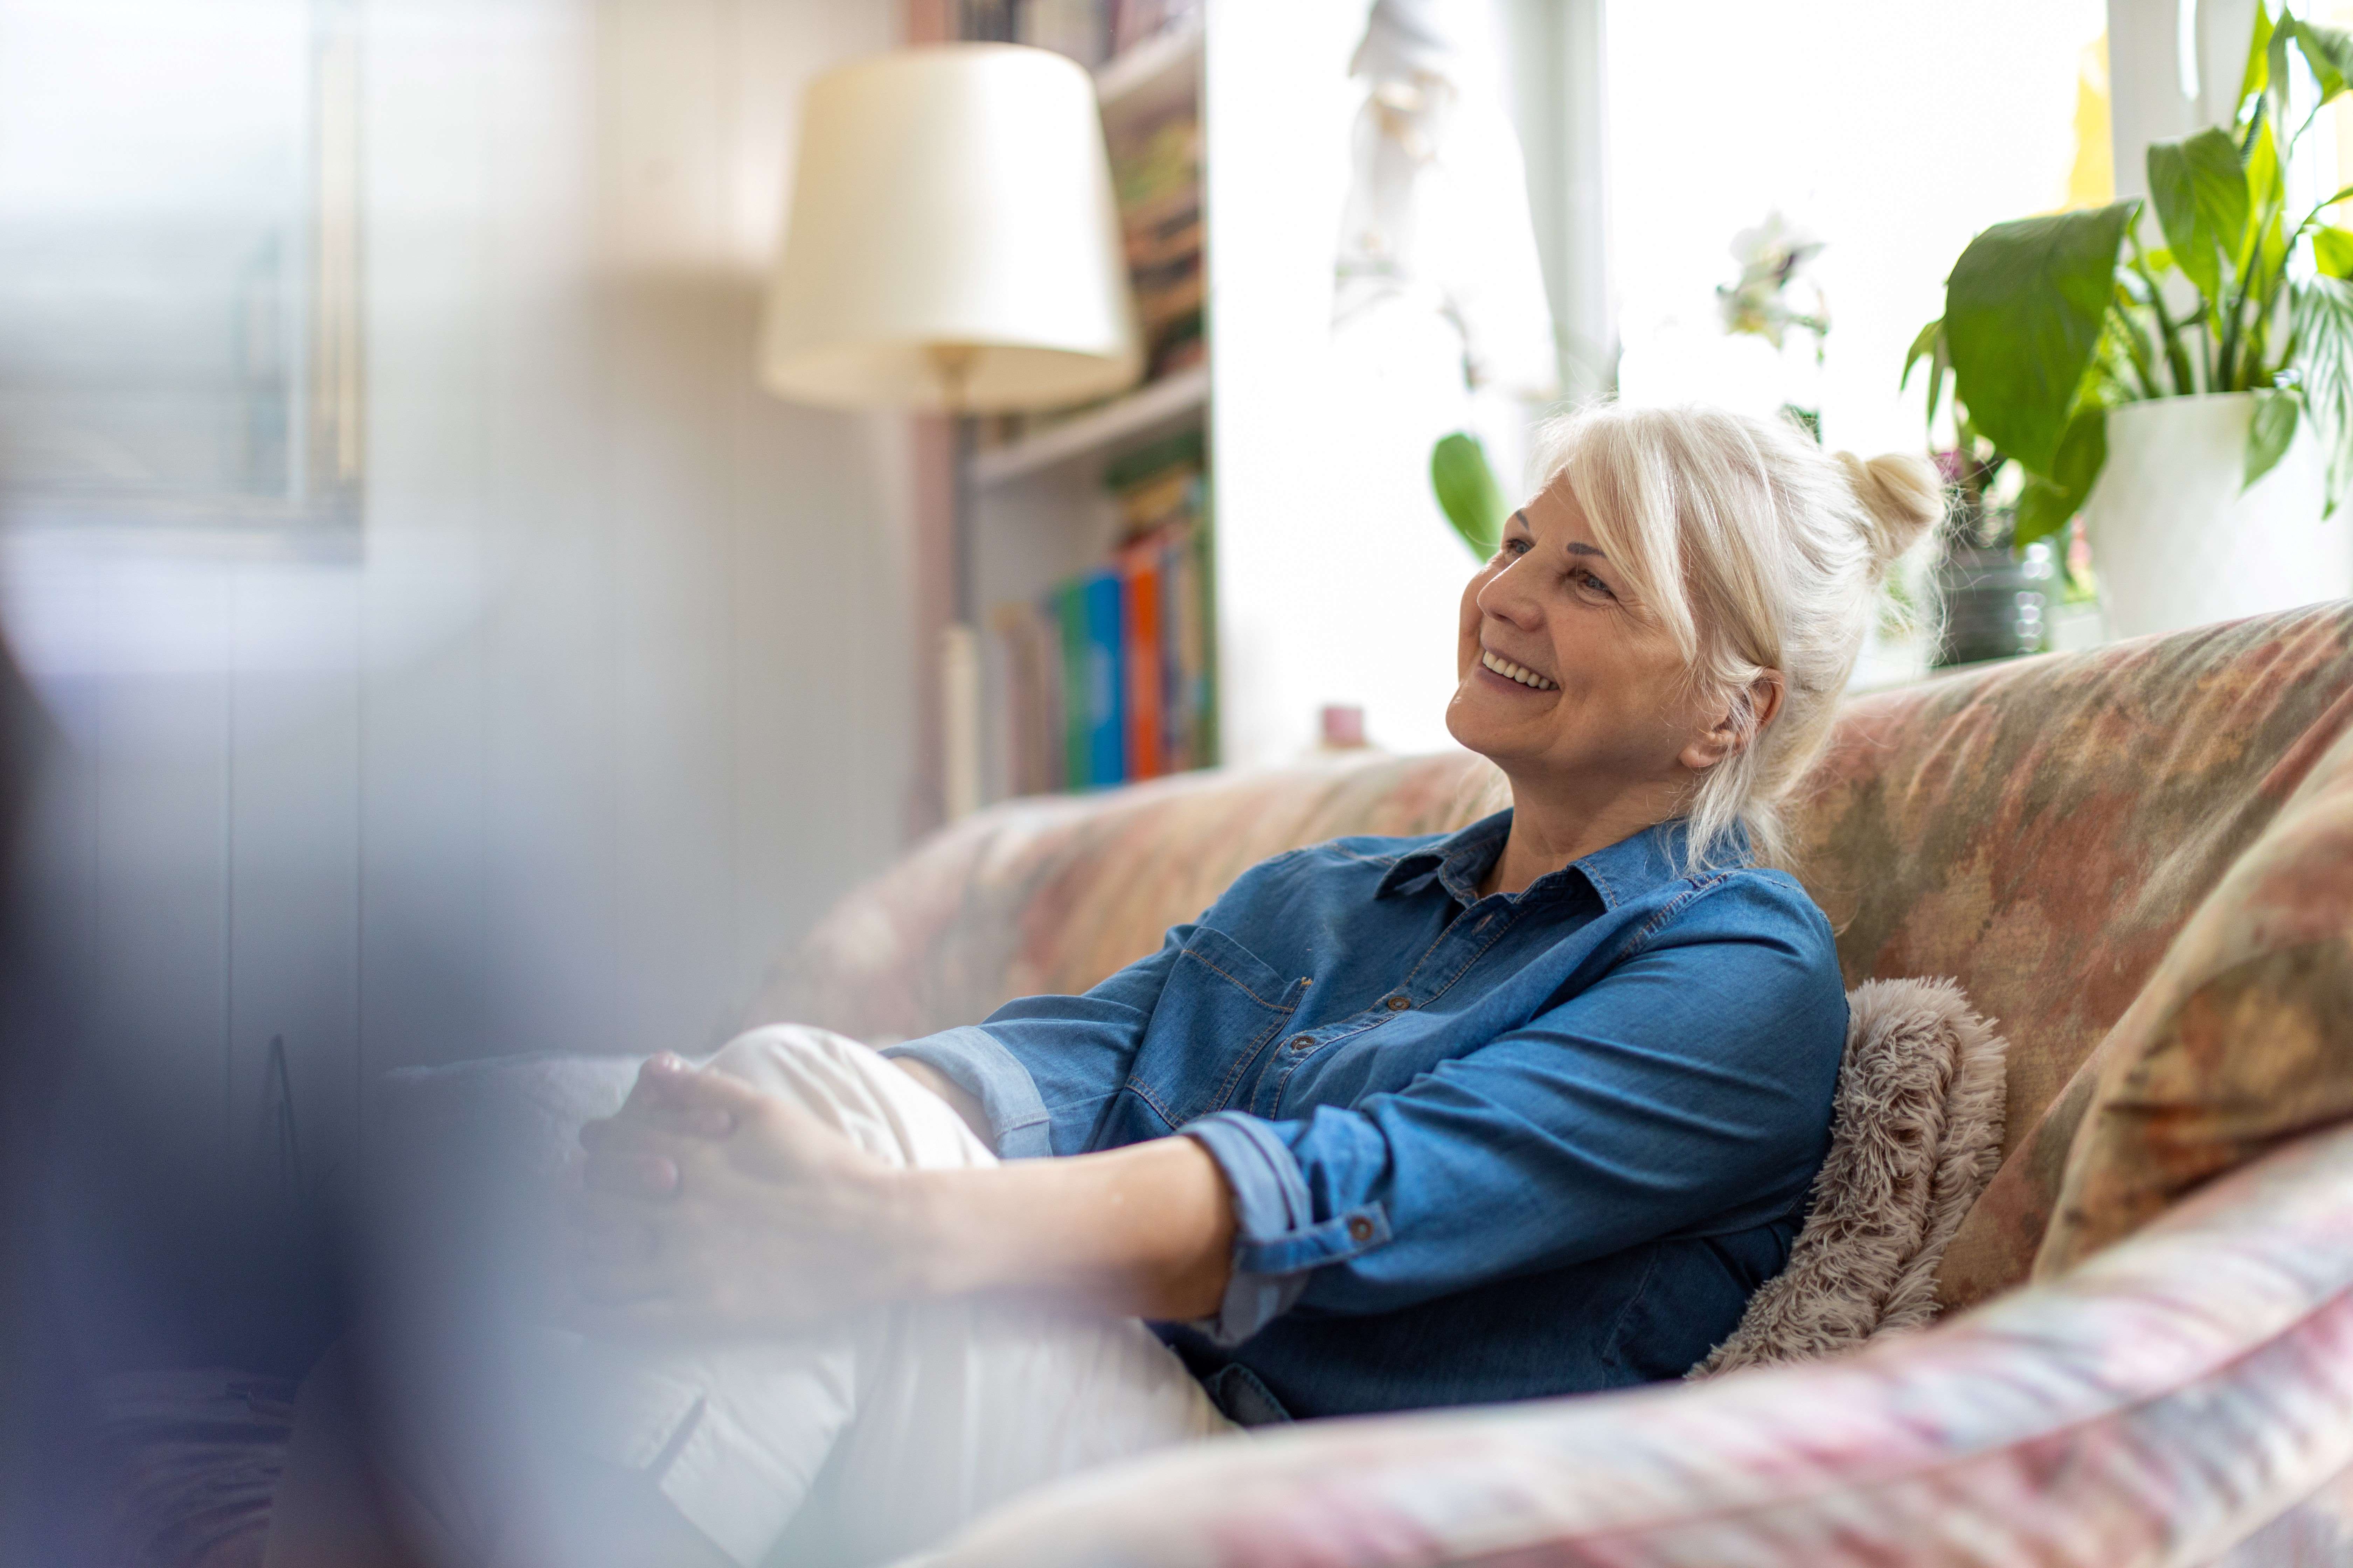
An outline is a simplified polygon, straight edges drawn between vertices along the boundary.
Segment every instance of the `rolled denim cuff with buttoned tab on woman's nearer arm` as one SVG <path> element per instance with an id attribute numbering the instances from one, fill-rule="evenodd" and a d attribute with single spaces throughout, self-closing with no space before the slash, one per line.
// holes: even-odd
<path id="1" fill-rule="evenodd" d="M 1221 1110 L 1176 1128 L 1209 1150 L 1233 1190 L 1233 1279 L 1214 1319 L 1193 1324 L 1217 1345 L 1240 1345 L 1292 1309 L 1308 1272 L 1388 1241 L 1379 1201 L 1315 1220 L 1299 1159 L 1271 1121 Z"/>

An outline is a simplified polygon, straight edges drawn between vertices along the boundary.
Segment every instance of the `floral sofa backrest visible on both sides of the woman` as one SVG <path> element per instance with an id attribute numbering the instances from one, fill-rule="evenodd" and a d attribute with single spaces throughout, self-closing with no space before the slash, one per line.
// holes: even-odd
<path id="1" fill-rule="evenodd" d="M 1795 870 L 1849 985 L 1951 976 L 2009 1037 L 2007 1159 L 2348 719 L 2344 602 L 1866 696 L 1798 792 Z M 1454 752 L 998 806 L 838 905 L 751 1023 L 878 1041 L 972 1023 L 1153 952 L 1271 853 L 1501 804 L 1494 769 Z"/>

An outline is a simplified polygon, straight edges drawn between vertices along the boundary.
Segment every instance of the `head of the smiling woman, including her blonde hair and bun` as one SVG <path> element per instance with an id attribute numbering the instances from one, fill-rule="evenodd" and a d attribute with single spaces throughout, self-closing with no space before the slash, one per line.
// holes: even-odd
<path id="1" fill-rule="evenodd" d="M 1539 470 L 1464 588 L 1447 710 L 1511 778 L 1513 839 L 1539 811 L 1602 844 L 1682 816 L 1692 865 L 1734 832 L 1777 863 L 1777 804 L 1828 733 L 1880 581 L 1944 508 L 1934 470 L 1826 456 L 1781 421 L 1626 407 L 1553 421 Z"/>

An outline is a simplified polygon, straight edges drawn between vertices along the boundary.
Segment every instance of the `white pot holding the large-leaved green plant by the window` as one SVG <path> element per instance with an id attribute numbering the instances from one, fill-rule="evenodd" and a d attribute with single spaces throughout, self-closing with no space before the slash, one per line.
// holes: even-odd
<path id="1" fill-rule="evenodd" d="M 2108 411 L 2108 463 L 2082 508 L 2111 637 L 2179 632 L 2353 592 L 2353 505 L 2322 520 L 2311 421 L 2240 494 L 2254 393 Z"/>

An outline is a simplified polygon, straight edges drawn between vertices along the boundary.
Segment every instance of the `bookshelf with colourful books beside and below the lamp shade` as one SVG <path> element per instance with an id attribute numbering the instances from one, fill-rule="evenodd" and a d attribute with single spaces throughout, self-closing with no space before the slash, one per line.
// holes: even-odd
<path id="1" fill-rule="evenodd" d="M 1191 9 L 1094 68 L 1146 381 L 972 458 L 988 802 L 1217 762 L 1205 40 Z"/>

